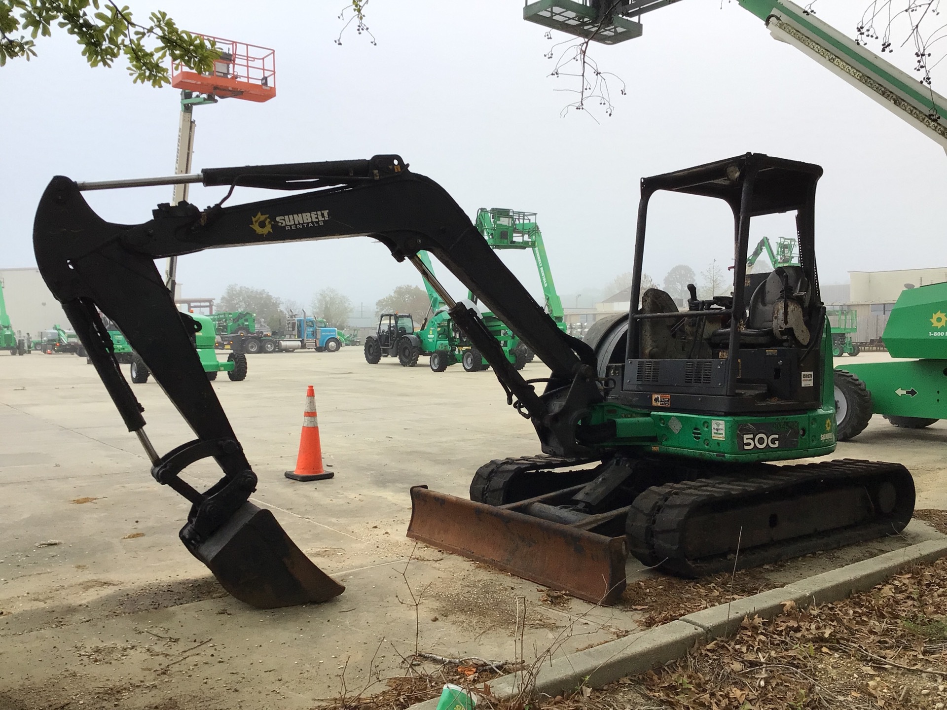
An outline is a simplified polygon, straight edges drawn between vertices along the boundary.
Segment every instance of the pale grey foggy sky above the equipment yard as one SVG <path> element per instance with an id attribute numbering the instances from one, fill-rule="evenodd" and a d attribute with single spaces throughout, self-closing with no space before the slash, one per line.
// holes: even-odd
<path id="1" fill-rule="evenodd" d="M 851 35 L 864 4 L 838 2 L 819 16 Z M 376 0 L 367 10 L 377 46 L 353 29 L 333 44 L 343 5 L 131 4 L 139 20 L 164 9 L 180 27 L 277 50 L 277 98 L 194 110 L 195 169 L 399 153 L 471 218 L 478 207 L 537 212 L 559 290 L 576 294 L 632 268 L 640 177 L 761 151 L 825 169 L 816 216 L 823 283 L 845 282 L 849 270 L 947 264 L 944 151 L 773 40 L 736 3 L 684 0 L 646 15 L 643 37 L 595 47 L 600 67 L 627 84 L 627 96 L 618 96 L 621 81 L 610 81 L 615 114 L 597 113 L 599 123 L 578 111 L 561 117 L 572 100 L 562 90 L 576 82 L 549 78 L 544 53 L 564 37 L 546 40 L 545 28 L 522 20 L 521 2 Z M 37 45 L 38 58 L 0 69 L 0 267 L 35 265 L 32 220 L 53 175 L 173 172 L 177 90 L 133 85 L 123 66 L 89 68 L 62 31 Z M 905 48 L 892 61 L 908 70 L 913 57 Z M 192 186 L 190 201 L 213 204 L 223 191 Z M 171 188 L 85 194 L 104 219 L 135 223 L 168 202 Z M 265 195 L 238 189 L 230 204 Z M 696 272 L 713 258 L 731 263 L 724 205 L 678 196 L 652 204 L 646 271 L 658 281 L 676 263 Z M 791 230 L 775 218 L 756 234 Z M 538 294 L 531 257 L 503 258 Z M 307 306 L 331 286 L 366 313 L 395 286 L 420 286 L 410 265 L 367 239 L 210 250 L 182 257 L 178 279 L 188 296 L 219 297 L 239 283 Z M 463 295 L 456 280 L 444 281 Z"/>

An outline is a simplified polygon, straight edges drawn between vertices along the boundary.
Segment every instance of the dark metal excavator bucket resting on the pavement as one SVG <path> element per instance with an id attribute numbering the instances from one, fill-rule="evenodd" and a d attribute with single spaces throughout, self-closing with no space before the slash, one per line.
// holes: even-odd
<path id="1" fill-rule="evenodd" d="M 188 549 L 227 592 L 258 609 L 327 601 L 346 589 L 295 546 L 273 513 L 252 503 Z"/>

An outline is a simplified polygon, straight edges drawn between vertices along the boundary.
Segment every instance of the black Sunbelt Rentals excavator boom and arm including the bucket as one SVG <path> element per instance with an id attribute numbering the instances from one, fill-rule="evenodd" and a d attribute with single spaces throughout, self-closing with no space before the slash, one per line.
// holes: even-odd
<path id="1" fill-rule="evenodd" d="M 63 304 L 99 377 L 152 459 L 152 475 L 188 498 L 180 537 L 233 595 L 259 607 L 322 601 L 344 589 L 296 548 L 268 510 L 248 503 L 257 477 L 194 350 L 196 322 L 177 311 L 154 259 L 208 248 L 369 236 L 402 260 L 426 250 L 484 300 L 552 370 L 538 394 L 504 356 L 475 311 L 451 315 L 494 368 L 512 402 L 530 417 L 546 453 L 576 455 L 579 420 L 601 400 L 592 349 L 563 333 L 491 251 L 447 192 L 408 171 L 397 155 L 233 169 L 206 169 L 205 186 L 304 192 L 202 211 L 160 204 L 152 220 L 105 222 L 80 185 L 53 178 L 37 209 L 34 249 L 46 284 Z M 192 180 L 197 182 L 197 180 Z M 116 184 L 116 186 L 128 186 Z M 415 259 L 412 258 L 414 261 Z M 197 435 L 159 455 L 144 433 L 144 411 L 112 354 L 104 313 L 152 371 Z M 179 474 L 212 456 L 223 478 L 200 492 Z"/>

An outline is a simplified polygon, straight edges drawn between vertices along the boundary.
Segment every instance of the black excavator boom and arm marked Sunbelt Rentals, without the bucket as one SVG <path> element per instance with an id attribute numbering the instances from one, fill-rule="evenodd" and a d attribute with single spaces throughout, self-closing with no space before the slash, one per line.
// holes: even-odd
<path id="1" fill-rule="evenodd" d="M 82 199 L 75 182 L 56 177 L 37 211 L 37 263 L 130 431 L 141 430 L 144 420 L 111 358 L 111 343 L 97 309 L 121 329 L 202 440 L 235 438 L 194 355 L 193 322 L 176 310 L 154 266 L 159 257 L 225 246 L 370 236 L 399 260 L 426 250 L 489 304 L 549 366 L 552 382 L 546 393 L 580 386 L 575 384 L 580 371 L 586 381 L 594 378 L 588 372 L 595 362 L 591 348 L 563 334 L 450 195 L 434 181 L 408 171 L 398 156 L 209 169 L 201 175 L 205 185 L 317 189 L 235 206 L 217 204 L 204 211 L 187 203 L 161 204 L 151 221 L 123 225 L 103 221 Z M 483 341 L 476 344 L 488 359 L 495 350 L 496 362 L 491 364 L 497 377 L 510 396 L 523 403 L 544 448 L 563 452 L 575 448 L 575 437 L 566 429 L 574 429 L 576 417 L 563 416 L 563 422 L 571 421 L 550 425 L 559 405 L 537 395 L 502 357 L 486 328 L 476 328 L 473 313 L 461 311 L 466 309 L 456 305 L 452 316 L 470 330 L 475 342 Z M 581 388 L 585 400 L 599 400 L 594 382 Z M 235 468 L 248 468 L 241 453 L 233 456 Z M 223 460 L 222 466 L 227 470 Z"/>

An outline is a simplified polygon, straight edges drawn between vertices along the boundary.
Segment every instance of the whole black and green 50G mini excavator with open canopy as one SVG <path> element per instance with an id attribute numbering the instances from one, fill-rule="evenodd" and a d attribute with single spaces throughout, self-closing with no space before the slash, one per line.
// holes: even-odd
<path id="1" fill-rule="evenodd" d="M 368 236 L 409 260 L 490 362 L 543 455 L 492 461 L 471 499 L 411 489 L 408 535 L 594 602 L 613 603 L 629 553 L 696 577 L 900 532 L 914 483 L 900 464 L 774 465 L 835 449 L 831 332 L 819 297 L 815 186 L 822 169 L 759 153 L 645 178 L 631 308 L 584 341 L 564 333 L 437 183 L 397 155 L 205 169 L 168 178 L 76 183 L 55 177 L 34 225 L 37 263 L 63 304 L 152 476 L 191 504 L 180 538 L 232 595 L 260 608 L 323 601 L 343 587 L 249 502 L 257 477 L 194 351 L 199 328 L 177 311 L 154 259 L 208 248 Z M 159 204 L 152 220 L 105 222 L 83 189 L 229 186 L 201 210 Z M 237 187 L 296 191 L 225 206 Z M 648 204 L 658 190 L 723 200 L 733 212 L 732 295 L 681 311 L 641 293 Z M 752 218 L 795 212 L 798 266 L 747 275 Z M 526 380 L 478 313 L 455 301 L 418 256 L 440 260 L 549 367 Z M 125 334 L 197 438 L 159 454 L 99 311 Z M 205 491 L 181 474 L 213 457 Z"/>

